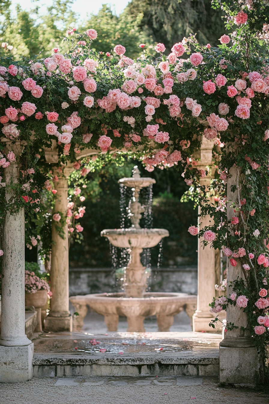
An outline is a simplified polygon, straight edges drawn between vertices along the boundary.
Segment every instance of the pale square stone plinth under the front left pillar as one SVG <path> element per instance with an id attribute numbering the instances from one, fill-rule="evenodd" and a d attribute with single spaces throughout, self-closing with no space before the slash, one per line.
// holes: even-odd
<path id="1" fill-rule="evenodd" d="M 0 346 L 0 383 L 20 383 L 33 377 L 33 343 L 24 347 Z"/>

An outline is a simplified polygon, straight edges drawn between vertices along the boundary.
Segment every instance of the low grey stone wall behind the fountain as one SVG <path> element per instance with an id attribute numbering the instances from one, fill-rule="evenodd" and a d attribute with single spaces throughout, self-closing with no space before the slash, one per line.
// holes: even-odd
<path id="1" fill-rule="evenodd" d="M 197 266 L 152 268 L 148 285 L 152 292 L 197 294 Z M 121 274 L 111 268 L 69 269 L 70 296 L 121 290 Z"/>

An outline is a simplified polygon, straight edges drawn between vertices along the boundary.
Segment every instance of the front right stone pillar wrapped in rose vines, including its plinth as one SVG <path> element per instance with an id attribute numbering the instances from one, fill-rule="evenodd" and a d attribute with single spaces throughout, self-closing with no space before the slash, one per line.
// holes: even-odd
<path id="1" fill-rule="evenodd" d="M 229 171 L 227 180 L 227 218 L 234 216 L 231 203 L 238 206 L 238 189 L 231 192 L 231 187 L 237 184 L 240 168 L 234 166 Z M 239 184 L 239 179 L 238 179 Z M 238 277 L 244 279 L 241 263 L 233 267 L 227 260 L 227 296 L 231 296 L 233 282 Z M 219 344 L 219 381 L 220 383 L 233 383 L 254 387 L 259 378 L 259 356 L 251 338 L 251 329 L 248 324 L 247 313 L 237 306 L 227 306 L 227 322 L 234 323 L 238 328 L 227 330 L 225 337 Z M 241 329 L 243 327 L 244 329 Z"/>

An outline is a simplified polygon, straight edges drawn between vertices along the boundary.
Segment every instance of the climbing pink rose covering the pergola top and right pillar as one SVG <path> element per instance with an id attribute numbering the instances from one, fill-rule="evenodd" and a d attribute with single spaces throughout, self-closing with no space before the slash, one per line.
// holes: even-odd
<path id="1" fill-rule="evenodd" d="M 201 215 L 214 223 L 202 231 L 191 226 L 190 233 L 226 251 L 228 272 L 242 268 L 242 276 L 228 282 L 227 297 L 211 308 L 236 305 L 247 313 L 254 343 L 265 357 L 269 328 L 258 319 L 269 307 L 265 292 L 259 295 L 269 282 L 267 4 L 226 0 L 214 6 L 225 10 L 233 32 L 217 48 L 201 46 L 191 35 L 174 44 L 168 56 L 163 44 L 156 45 L 156 55 L 141 44 L 143 53 L 133 60 L 121 44 L 97 53 L 94 29 L 69 29 L 65 55 L 53 50 L 40 60 L 1 57 L 1 181 L 14 158 L 20 174 L 0 217 L 22 206 L 40 209 L 40 193 L 50 179 L 45 158 L 50 147 L 54 168 L 71 162 L 81 177 L 87 175 L 79 158 L 84 149 L 136 153 L 148 172 L 176 165 L 194 193 L 199 191 Z M 196 168 L 194 153 L 202 141 L 214 145 L 213 193 L 199 184 L 209 173 Z M 20 142 L 21 153 L 13 156 L 7 142 Z M 4 198 L 4 181 L 0 185 Z M 208 203 L 211 193 L 218 196 L 214 203 Z M 52 211 L 51 220 L 81 233 L 73 223 L 83 214 L 83 205 L 79 208 L 70 207 L 70 223 L 62 212 Z"/>

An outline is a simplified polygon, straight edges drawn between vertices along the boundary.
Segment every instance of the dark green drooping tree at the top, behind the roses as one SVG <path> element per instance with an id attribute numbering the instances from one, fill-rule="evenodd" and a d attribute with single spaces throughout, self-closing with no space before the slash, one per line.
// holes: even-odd
<path id="1" fill-rule="evenodd" d="M 168 48 L 190 33 L 197 33 L 198 42 L 211 46 L 219 44 L 218 38 L 225 33 L 225 14 L 213 10 L 210 0 L 132 0 L 125 9 L 136 17 L 143 13 L 140 23 L 146 37 L 161 42 Z"/>

